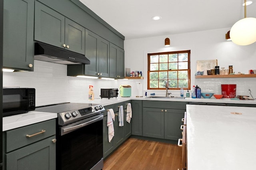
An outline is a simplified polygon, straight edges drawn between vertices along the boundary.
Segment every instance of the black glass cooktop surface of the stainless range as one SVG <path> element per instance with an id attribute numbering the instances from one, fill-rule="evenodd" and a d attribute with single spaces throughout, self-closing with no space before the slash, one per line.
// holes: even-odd
<path id="1" fill-rule="evenodd" d="M 35 111 L 49 112 L 49 113 L 62 113 L 72 110 L 84 109 L 97 104 L 89 103 L 58 103 L 53 105 L 44 105 L 36 107 Z"/>

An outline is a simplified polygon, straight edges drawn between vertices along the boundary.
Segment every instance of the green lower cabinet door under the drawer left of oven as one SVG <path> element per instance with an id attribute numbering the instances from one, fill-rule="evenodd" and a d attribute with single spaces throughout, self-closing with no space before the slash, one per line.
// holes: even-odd
<path id="1" fill-rule="evenodd" d="M 6 170 L 55 170 L 56 136 L 6 154 Z"/>

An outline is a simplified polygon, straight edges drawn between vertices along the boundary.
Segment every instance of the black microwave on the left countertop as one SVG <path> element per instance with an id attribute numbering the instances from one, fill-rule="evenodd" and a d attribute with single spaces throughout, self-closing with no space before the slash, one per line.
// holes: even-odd
<path id="1" fill-rule="evenodd" d="M 34 111 L 36 89 L 3 88 L 3 117 Z"/>

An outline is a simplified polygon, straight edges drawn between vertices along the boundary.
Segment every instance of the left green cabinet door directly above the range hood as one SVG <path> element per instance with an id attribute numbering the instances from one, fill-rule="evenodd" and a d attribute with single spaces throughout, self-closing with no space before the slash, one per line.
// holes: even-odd
<path id="1" fill-rule="evenodd" d="M 65 17 L 51 8 L 35 1 L 34 39 L 56 47 L 65 43 Z M 64 47 L 63 47 L 64 48 Z"/>

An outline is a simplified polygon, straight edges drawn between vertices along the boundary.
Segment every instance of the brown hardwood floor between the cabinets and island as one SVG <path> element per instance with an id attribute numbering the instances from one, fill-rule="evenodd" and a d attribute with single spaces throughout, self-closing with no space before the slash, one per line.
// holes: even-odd
<path id="1" fill-rule="evenodd" d="M 129 138 L 104 159 L 103 170 L 182 170 L 182 147 Z"/>

